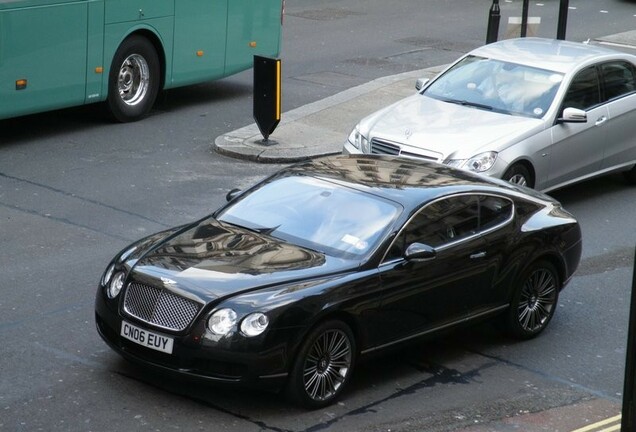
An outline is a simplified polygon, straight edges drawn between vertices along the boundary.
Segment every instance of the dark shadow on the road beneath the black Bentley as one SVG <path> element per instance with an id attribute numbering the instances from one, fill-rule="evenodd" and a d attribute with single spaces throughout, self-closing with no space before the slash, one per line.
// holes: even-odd
<path id="1" fill-rule="evenodd" d="M 350 388 L 342 401 L 329 407 L 344 414 L 366 410 L 423 388 L 444 384 L 469 384 L 473 377 L 453 364 L 474 356 L 474 347 L 509 343 L 490 322 L 449 331 L 443 336 L 363 359 L 356 365 Z M 120 359 L 111 367 L 119 376 L 137 381 L 167 395 L 179 396 L 205 409 L 213 409 L 244 421 L 287 422 L 295 416 L 312 417 L 312 411 L 293 404 L 282 392 L 236 388 L 190 381 L 142 368 Z M 405 383 L 402 388 L 402 384 Z M 151 392 L 151 389 L 148 389 Z M 315 413 L 315 412 L 313 412 Z M 314 414 L 315 415 L 315 414 Z"/>

